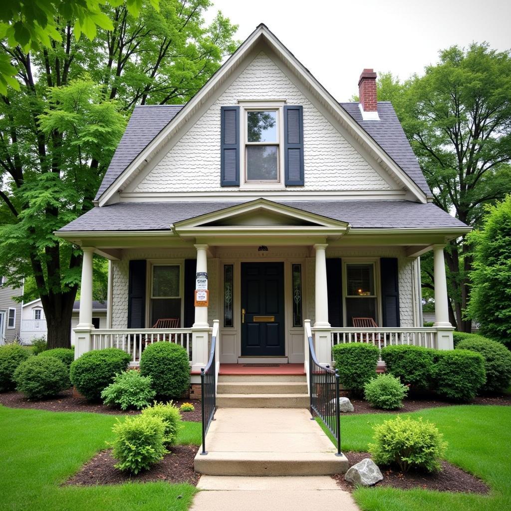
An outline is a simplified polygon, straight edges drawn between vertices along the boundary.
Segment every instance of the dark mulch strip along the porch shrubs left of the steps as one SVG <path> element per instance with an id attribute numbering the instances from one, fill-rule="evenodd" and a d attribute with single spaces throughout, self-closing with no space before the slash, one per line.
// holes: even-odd
<path id="1" fill-rule="evenodd" d="M 195 410 L 181 412 L 183 421 L 201 422 L 200 401 L 190 399 L 175 399 L 173 403 L 180 406 L 182 403 L 192 403 Z M 57 397 L 41 401 L 30 401 L 21 392 L 0 393 L 0 404 L 10 408 L 32 408 L 36 410 L 49 410 L 52 412 L 95 412 L 107 413 L 110 415 L 135 415 L 138 410 L 122 411 L 117 408 L 110 408 L 102 403 L 89 403 L 84 398 L 74 397 L 73 389 L 63 390 Z"/>

